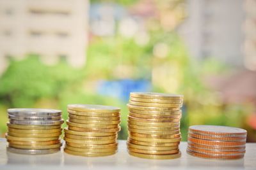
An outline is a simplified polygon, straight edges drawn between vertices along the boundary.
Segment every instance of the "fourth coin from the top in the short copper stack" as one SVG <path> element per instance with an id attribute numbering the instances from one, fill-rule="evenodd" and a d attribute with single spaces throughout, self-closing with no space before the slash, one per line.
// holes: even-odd
<path id="1" fill-rule="evenodd" d="M 234 147 L 208 146 L 208 145 L 199 145 L 196 143 L 191 143 L 189 141 L 188 141 L 188 146 L 191 146 L 193 148 L 198 148 L 198 149 L 204 149 L 204 150 L 220 150 L 220 151 L 244 151 L 245 150 L 245 145 L 244 146 L 234 146 Z"/>

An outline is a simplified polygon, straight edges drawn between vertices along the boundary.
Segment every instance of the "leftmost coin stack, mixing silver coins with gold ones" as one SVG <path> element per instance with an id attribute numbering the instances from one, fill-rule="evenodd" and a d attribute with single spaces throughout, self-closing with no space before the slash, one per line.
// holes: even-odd
<path id="1" fill-rule="evenodd" d="M 55 153 L 61 147 L 60 110 L 8 109 L 7 150 L 22 154 Z"/>

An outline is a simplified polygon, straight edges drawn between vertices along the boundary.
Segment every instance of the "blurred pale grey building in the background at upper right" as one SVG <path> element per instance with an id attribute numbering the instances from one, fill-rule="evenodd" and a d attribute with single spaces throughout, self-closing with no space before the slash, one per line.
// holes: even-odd
<path id="1" fill-rule="evenodd" d="M 234 66 L 244 60 L 244 1 L 186 0 L 188 18 L 180 34 L 193 57 L 215 57 Z M 256 11 L 256 6 L 252 6 Z"/>

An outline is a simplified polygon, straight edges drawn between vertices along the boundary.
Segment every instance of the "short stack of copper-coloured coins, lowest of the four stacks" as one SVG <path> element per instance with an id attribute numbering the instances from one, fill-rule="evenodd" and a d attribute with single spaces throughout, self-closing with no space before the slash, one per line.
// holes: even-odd
<path id="1" fill-rule="evenodd" d="M 207 159 L 240 159 L 244 157 L 244 129 L 217 125 L 189 127 L 187 153 Z"/>

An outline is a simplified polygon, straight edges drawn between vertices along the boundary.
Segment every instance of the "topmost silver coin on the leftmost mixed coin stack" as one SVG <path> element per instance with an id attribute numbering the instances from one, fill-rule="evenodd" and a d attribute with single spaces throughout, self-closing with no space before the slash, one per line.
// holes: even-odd
<path id="1" fill-rule="evenodd" d="M 23 117 L 58 117 L 61 116 L 61 110 L 34 109 L 34 108 L 15 108 L 7 110 L 9 115 Z"/>

